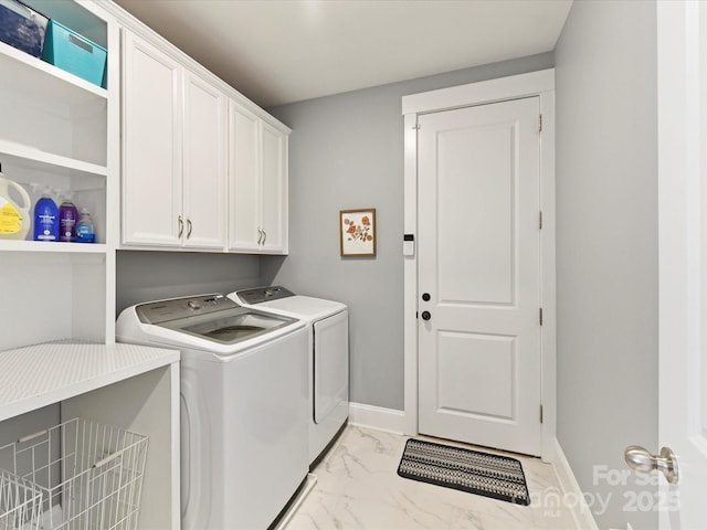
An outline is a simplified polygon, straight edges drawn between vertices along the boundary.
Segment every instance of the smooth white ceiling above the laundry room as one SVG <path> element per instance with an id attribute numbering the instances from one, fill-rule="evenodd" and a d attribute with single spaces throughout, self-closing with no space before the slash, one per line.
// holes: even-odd
<path id="1" fill-rule="evenodd" d="M 572 0 L 115 0 L 263 107 L 555 49 Z"/>

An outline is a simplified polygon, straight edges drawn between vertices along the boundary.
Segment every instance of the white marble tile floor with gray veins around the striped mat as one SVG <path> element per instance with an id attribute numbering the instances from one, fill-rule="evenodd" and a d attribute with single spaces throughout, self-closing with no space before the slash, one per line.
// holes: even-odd
<path id="1" fill-rule="evenodd" d="M 517 506 L 399 477 L 407 439 L 347 426 L 313 470 L 317 481 L 285 530 L 576 530 L 558 506 L 552 466 L 539 458 L 508 455 L 520 459 L 530 492 L 530 506 Z"/>

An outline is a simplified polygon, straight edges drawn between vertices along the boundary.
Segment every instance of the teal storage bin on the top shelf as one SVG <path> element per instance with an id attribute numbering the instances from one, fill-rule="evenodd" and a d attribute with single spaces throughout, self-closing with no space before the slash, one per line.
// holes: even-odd
<path id="1" fill-rule="evenodd" d="M 103 86 L 107 52 L 98 44 L 50 20 L 42 59 L 54 66 Z"/>

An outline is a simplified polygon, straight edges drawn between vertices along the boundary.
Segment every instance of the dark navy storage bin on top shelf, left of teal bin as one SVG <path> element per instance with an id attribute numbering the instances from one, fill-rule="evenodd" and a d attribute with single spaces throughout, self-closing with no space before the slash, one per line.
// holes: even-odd
<path id="1" fill-rule="evenodd" d="M 0 0 L 0 41 L 39 57 L 49 19 L 18 0 Z"/>

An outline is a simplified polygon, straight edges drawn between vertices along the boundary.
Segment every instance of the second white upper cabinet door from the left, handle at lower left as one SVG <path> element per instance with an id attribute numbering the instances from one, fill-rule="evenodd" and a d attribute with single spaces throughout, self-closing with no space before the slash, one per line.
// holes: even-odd
<path id="1" fill-rule="evenodd" d="M 191 72 L 184 75 L 183 244 L 225 245 L 226 98 Z"/>

